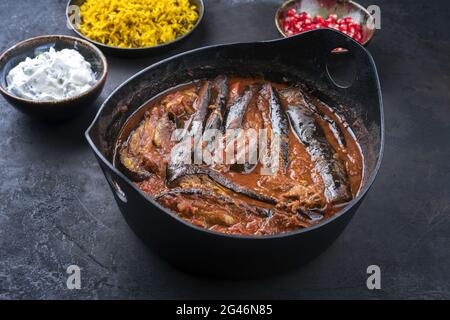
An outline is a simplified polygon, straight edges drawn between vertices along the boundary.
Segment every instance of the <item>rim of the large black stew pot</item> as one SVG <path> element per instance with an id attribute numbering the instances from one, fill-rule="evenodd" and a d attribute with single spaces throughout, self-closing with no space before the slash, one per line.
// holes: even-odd
<path id="1" fill-rule="evenodd" d="M 155 67 L 157 67 L 157 66 L 159 66 L 161 64 L 168 63 L 171 60 L 175 60 L 177 58 L 180 58 L 180 57 L 183 57 L 183 56 L 186 56 L 186 55 L 191 55 L 191 54 L 195 54 L 197 52 L 210 50 L 210 49 L 217 49 L 217 48 L 221 48 L 221 47 L 236 46 L 236 45 L 243 45 L 243 44 L 245 44 L 245 45 L 249 45 L 249 44 L 273 44 L 273 43 L 282 42 L 282 41 L 300 41 L 300 39 L 303 37 L 303 35 L 306 35 L 307 33 L 310 33 L 310 32 L 333 32 L 333 33 L 339 34 L 340 36 L 348 38 L 345 34 L 342 34 L 342 33 L 338 32 L 336 30 L 332 30 L 332 29 L 317 29 L 317 30 L 306 31 L 306 32 L 303 32 L 301 34 L 297 34 L 295 36 L 288 37 L 288 38 L 265 40 L 265 41 L 255 41 L 255 42 L 235 42 L 235 43 L 227 43 L 227 44 L 210 45 L 210 46 L 206 46 L 206 47 L 201 47 L 201 48 L 196 48 L 196 49 L 192 49 L 192 50 L 189 50 L 189 51 L 185 51 L 185 52 L 176 54 L 174 56 L 168 57 L 166 59 L 160 60 L 160 61 L 158 61 L 158 62 L 156 62 L 156 63 L 154 63 L 154 64 L 152 64 L 152 65 L 150 65 L 150 66 L 148 66 L 148 67 L 146 67 L 144 69 L 142 69 L 141 71 L 137 72 L 133 76 L 129 77 L 127 80 L 122 82 L 119 86 L 116 87 L 116 89 L 114 89 L 111 92 L 111 94 L 103 101 L 102 105 L 100 106 L 100 108 L 97 111 L 97 114 L 96 114 L 95 118 L 92 120 L 92 123 L 89 125 L 89 127 L 85 131 L 85 138 L 86 138 L 90 148 L 93 150 L 94 154 L 98 157 L 98 159 L 100 159 L 103 162 L 104 165 L 106 165 L 112 172 L 114 172 L 114 174 L 118 175 L 123 181 L 125 181 L 128 184 L 129 187 L 131 187 L 134 191 L 136 191 L 138 194 L 140 194 L 144 199 L 148 200 L 153 206 L 157 207 L 159 210 L 161 210 L 162 212 L 167 214 L 168 217 L 173 218 L 174 220 L 182 223 L 186 227 L 191 228 L 193 230 L 197 230 L 199 232 L 205 232 L 205 233 L 210 234 L 212 236 L 223 237 L 223 238 L 243 239 L 243 240 L 248 240 L 248 241 L 264 241 L 264 240 L 270 240 L 270 239 L 280 239 L 280 238 L 294 237 L 294 236 L 297 236 L 297 235 L 300 235 L 300 234 L 303 234 L 303 233 L 313 232 L 316 229 L 322 228 L 322 227 L 324 227 L 324 226 L 334 222 L 335 220 L 340 219 L 345 214 L 347 214 L 350 211 L 350 209 L 352 209 L 358 202 L 360 202 L 366 196 L 367 192 L 372 187 L 373 183 L 375 182 L 376 177 L 378 176 L 378 172 L 380 170 L 381 162 L 382 162 L 383 155 L 384 155 L 384 144 L 385 144 L 384 107 L 383 107 L 383 99 L 382 99 L 381 85 L 380 85 L 380 80 L 379 80 L 379 76 L 378 76 L 378 71 L 377 71 L 377 68 L 376 68 L 376 65 L 375 65 L 375 61 L 373 60 L 373 57 L 370 54 L 370 52 L 367 49 L 365 49 L 362 45 L 360 45 L 359 43 L 356 43 L 356 45 L 358 45 L 368 55 L 369 61 L 370 61 L 370 63 L 373 66 L 373 72 L 375 74 L 375 79 L 376 79 L 376 87 L 377 87 L 376 90 L 378 92 L 378 103 L 379 103 L 379 112 L 380 112 L 380 148 L 379 148 L 379 152 L 378 152 L 378 160 L 376 162 L 376 165 L 375 165 L 375 167 L 373 169 L 372 174 L 367 179 L 366 185 L 359 190 L 359 192 L 356 195 L 356 197 L 354 197 L 351 201 L 347 202 L 345 204 L 345 206 L 342 208 L 342 210 L 340 210 L 339 212 L 334 214 L 332 217 L 329 217 L 329 218 L 321 221 L 320 223 L 318 223 L 316 225 L 313 225 L 313 226 L 310 226 L 310 227 L 307 227 L 307 228 L 302 228 L 302 229 L 289 231 L 289 232 L 277 233 L 277 234 L 273 234 L 273 235 L 227 234 L 227 233 L 221 233 L 221 232 L 217 232 L 217 231 L 201 228 L 199 226 L 196 226 L 196 225 L 194 225 L 192 223 L 189 223 L 189 222 L 183 220 L 176 213 L 172 212 L 172 210 L 170 210 L 170 209 L 168 209 L 166 207 L 163 207 L 157 201 L 152 199 L 149 195 L 145 194 L 142 190 L 137 188 L 132 183 L 132 181 L 124 173 L 122 173 L 120 170 L 118 170 L 108 159 L 106 159 L 103 156 L 103 154 L 97 148 L 97 146 L 95 145 L 95 143 L 92 140 L 91 135 L 90 135 L 90 133 L 93 130 L 93 128 L 97 125 L 97 122 L 98 122 L 98 120 L 100 118 L 101 113 L 103 112 L 103 109 L 109 103 L 111 98 L 119 90 L 121 90 L 124 86 L 129 84 L 131 81 L 133 81 L 137 77 L 141 76 L 143 73 L 148 72 L 152 68 L 155 68 Z M 106 173 L 105 173 L 105 175 L 106 175 Z M 109 183 L 109 181 L 108 181 L 108 183 Z M 113 191 L 113 193 L 115 193 L 115 191 Z"/>

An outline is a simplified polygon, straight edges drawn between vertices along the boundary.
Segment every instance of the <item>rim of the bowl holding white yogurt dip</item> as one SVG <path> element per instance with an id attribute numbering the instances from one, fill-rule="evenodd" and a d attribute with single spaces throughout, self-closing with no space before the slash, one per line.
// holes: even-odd
<path id="1" fill-rule="evenodd" d="M 32 100 L 32 99 L 22 98 L 22 97 L 16 96 L 15 94 L 9 92 L 1 84 L 0 84 L 0 92 L 3 95 L 5 95 L 15 101 L 20 101 L 22 103 L 35 104 L 35 105 L 41 105 L 41 104 L 59 105 L 59 104 L 65 104 L 67 102 L 73 102 L 80 98 L 88 96 L 92 92 L 96 91 L 100 86 L 102 86 L 103 83 L 105 82 L 106 76 L 108 74 L 108 62 L 106 60 L 105 55 L 92 43 L 89 43 L 88 41 L 77 38 L 77 37 L 72 37 L 72 36 L 67 36 L 67 35 L 43 35 L 43 36 L 32 37 L 32 38 L 28 38 L 26 40 L 20 41 L 20 42 L 16 43 L 15 45 L 13 45 L 12 47 L 10 47 L 9 49 L 5 50 L 0 55 L 0 66 L 3 66 L 7 61 L 9 61 L 9 59 L 6 58 L 6 56 L 8 54 L 13 53 L 15 50 L 17 50 L 18 48 L 20 48 L 22 46 L 26 46 L 30 42 L 34 42 L 34 41 L 38 40 L 40 43 L 45 43 L 45 42 L 51 42 L 52 40 L 61 40 L 61 39 L 69 40 L 73 43 L 80 42 L 83 45 L 85 45 L 88 49 L 90 49 L 92 52 L 94 52 L 98 58 L 100 58 L 100 61 L 103 65 L 103 71 L 102 71 L 100 77 L 95 81 L 95 84 L 92 87 L 90 87 L 88 90 L 86 90 L 76 96 L 68 97 L 68 98 L 64 98 L 64 99 L 57 99 L 57 100 Z"/>

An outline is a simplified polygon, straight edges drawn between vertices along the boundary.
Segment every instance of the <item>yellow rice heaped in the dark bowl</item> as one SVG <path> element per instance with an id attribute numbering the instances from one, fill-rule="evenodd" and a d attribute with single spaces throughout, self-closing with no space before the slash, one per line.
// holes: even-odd
<path id="1" fill-rule="evenodd" d="M 79 31 L 115 47 L 163 44 L 187 33 L 198 20 L 189 0 L 87 0 L 80 6 Z"/>

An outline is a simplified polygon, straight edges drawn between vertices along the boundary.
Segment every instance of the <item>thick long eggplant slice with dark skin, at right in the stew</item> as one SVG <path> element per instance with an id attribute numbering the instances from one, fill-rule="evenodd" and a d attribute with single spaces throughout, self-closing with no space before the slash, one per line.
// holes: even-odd
<path id="1" fill-rule="evenodd" d="M 333 157 L 333 150 L 317 124 L 313 112 L 305 106 L 289 105 L 287 110 L 291 126 L 322 177 L 325 197 L 333 204 L 352 198 L 343 165 Z"/>

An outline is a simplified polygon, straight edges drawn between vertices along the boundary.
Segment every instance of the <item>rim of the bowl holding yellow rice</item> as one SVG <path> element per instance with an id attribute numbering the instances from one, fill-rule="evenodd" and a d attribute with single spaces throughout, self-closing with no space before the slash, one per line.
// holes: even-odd
<path id="1" fill-rule="evenodd" d="M 84 1 L 86 1 L 86 0 L 84 0 Z M 192 1 L 192 0 L 190 0 L 190 1 Z M 157 49 L 162 49 L 162 48 L 168 47 L 168 46 L 170 46 L 170 45 L 172 45 L 172 44 L 174 44 L 176 42 L 182 41 L 183 39 L 185 39 L 189 35 L 191 35 L 194 32 L 194 30 L 196 30 L 198 28 L 198 26 L 200 26 L 200 23 L 202 22 L 203 17 L 205 15 L 205 4 L 204 4 L 203 0 L 195 0 L 195 1 L 198 1 L 198 3 L 200 4 L 200 6 L 199 6 L 199 17 L 197 19 L 197 22 L 191 28 L 191 30 L 189 30 L 188 32 L 186 32 L 182 36 L 180 36 L 180 37 L 178 37 L 178 38 L 176 38 L 176 39 L 174 39 L 172 41 L 165 42 L 165 43 L 162 43 L 162 44 L 158 44 L 158 45 L 155 45 L 155 46 L 141 47 L 141 48 L 122 48 L 122 47 L 110 46 L 108 44 L 104 44 L 104 43 L 95 41 L 95 40 L 85 36 L 84 34 L 82 34 L 80 31 L 77 30 L 77 28 L 73 25 L 72 21 L 70 21 L 70 19 L 69 19 L 69 7 L 72 5 L 73 0 L 69 0 L 67 2 L 66 13 L 65 14 L 66 14 L 66 20 L 67 20 L 68 26 L 70 26 L 70 29 L 73 32 L 75 32 L 79 37 L 83 38 L 84 40 L 89 41 L 89 42 L 97 45 L 100 48 L 104 48 L 104 49 L 107 49 L 107 50 L 121 51 L 121 52 L 124 52 L 124 53 L 125 52 L 143 52 L 143 51 L 150 51 L 152 49 L 154 49 L 156 51 Z"/>

